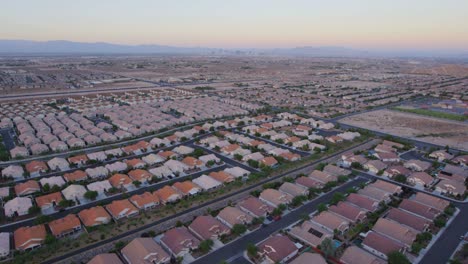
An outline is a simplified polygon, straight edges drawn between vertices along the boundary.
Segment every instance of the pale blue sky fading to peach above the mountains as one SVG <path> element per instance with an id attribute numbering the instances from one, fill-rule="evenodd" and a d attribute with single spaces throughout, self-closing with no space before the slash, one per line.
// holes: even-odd
<path id="1" fill-rule="evenodd" d="M 468 0 L 0 1 L 0 39 L 468 50 Z"/>

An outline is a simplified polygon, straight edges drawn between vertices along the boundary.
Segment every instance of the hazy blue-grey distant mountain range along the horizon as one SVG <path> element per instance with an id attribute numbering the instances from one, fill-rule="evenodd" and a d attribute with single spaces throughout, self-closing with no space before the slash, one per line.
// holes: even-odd
<path id="1" fill-rule="evenodd" d="M 278 49 L 219 49 L 164 45 L 122 45 L 105 42 L 66 40 L 0 40 L 0 55 L 43 54 L 201 54 L 201 55 L 283 55 L 311 57 L 452 57 L 468 58 L 468 52 L 419 50 L 358 50 L 346 47 L 297 47 Z"/>

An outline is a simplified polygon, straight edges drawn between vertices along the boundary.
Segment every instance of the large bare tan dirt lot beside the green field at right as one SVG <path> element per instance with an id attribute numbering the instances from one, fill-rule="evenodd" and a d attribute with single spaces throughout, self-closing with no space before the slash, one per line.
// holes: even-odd
<path id="1" fill-rule="evenodd" d="M 340 122 L 395 136 L 468 150 L 468 124 L 461 122 L 391 110 L 371 111 L 343 118 Z"/>

